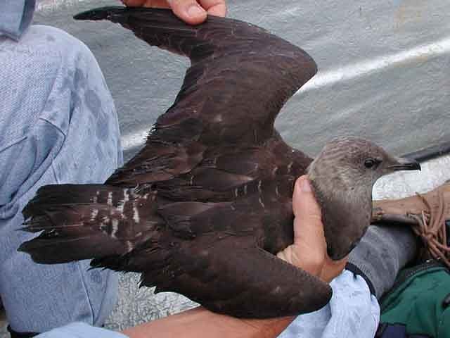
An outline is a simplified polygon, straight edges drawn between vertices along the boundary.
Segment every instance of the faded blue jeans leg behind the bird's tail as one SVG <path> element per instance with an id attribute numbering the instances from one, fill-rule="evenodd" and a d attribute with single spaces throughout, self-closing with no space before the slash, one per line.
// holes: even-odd
<path id="1" fill-rule="evenodd" d="M 0 295 L 16 332 L 101 325 L 113 309 L 115 273 L 39 265 L 17 248 L 35 235 L 19 229 L 39 187 L 104 182 L 120 165 L 115 106 L 89 49 L 46 26 L 0 37 Z"/>

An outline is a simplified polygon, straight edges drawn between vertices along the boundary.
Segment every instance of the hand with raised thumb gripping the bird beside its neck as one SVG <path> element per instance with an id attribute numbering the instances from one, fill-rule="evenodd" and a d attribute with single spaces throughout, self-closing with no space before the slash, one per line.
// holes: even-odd
<path id="1" fill-rule="evenodd" d="M 294 243 L 276 256 L 326 282 L 340 275 L 348 256 L 333 261 L 326 252 L 321 209 L 306 175 L 297 179 L 293 194 Z"/>

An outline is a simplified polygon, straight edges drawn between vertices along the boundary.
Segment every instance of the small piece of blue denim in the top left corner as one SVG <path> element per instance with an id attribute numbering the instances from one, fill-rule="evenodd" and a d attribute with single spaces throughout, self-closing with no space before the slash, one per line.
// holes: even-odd
<path id="1" fill-rule="evenodd" d="M 0 36 L 18 40 L 30 26 L 36 0 L 0 0 Z"/>

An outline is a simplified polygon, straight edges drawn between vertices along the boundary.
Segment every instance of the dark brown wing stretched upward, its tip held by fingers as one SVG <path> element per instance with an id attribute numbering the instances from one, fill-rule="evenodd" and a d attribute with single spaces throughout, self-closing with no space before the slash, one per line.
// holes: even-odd
<path id="1" fill-rule="evenodd" d="M 285 101 L 316 73 L 302 49 L 238 20 L 210 15 L 191 26 L 168 10 L 122 7 L 75 18 L 120 23 L 148 44 L 191 59 L 173 106 L 109 183 L 123 184 L 130 176 L 134 183 L 167 180 L 200 163 L 207 147 L 262 144 L 274 134 Z"/>

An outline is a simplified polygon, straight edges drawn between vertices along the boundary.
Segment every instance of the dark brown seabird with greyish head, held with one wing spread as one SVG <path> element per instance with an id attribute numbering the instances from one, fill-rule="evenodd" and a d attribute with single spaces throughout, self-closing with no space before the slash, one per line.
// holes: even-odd
<path id="1" fill-rule="evenodd" d="M 333 138 L 315 159 L 284 142 L 274 120 L 317 67 L 256 25 L 209 15 L 191 26 L 158 8 L 95 8 L 75 19 L 119 23 L 191 66 L 143 149 L 104 184 L 37 191 L 23 230 L 39 235 L 19 250 L 37 263 L 91 259 L 141 273 L 141 286 L 238 318 L 325 306 L 330 286 L 276 256 L 293 244 L 296 178 L 309 175 L 338 260 L 370 223 L 373 183 L 420 165 L 359 137 Z"/>

